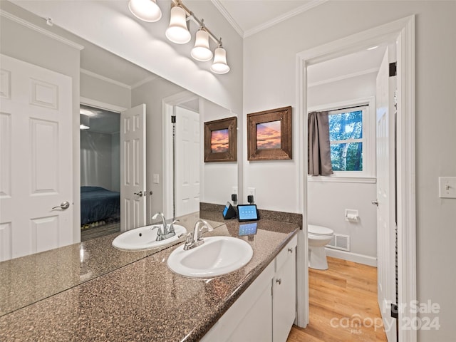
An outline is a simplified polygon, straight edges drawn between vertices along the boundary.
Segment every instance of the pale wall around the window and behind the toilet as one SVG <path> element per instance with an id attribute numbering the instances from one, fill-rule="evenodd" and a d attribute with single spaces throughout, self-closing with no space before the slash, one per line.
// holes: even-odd
<path id="1" fill-rule="evenodd" d="M 309 68 L 309 73 L 314 71 Z M 346 78 L 310 87 L 307 90 L 309 108 L 375 96 L 376 73 Z M 375 122 L 375 108 L 369 111 Z M 375 130 L 372 130 L 375 134 Z M 375 140 L 375 137 L 372 137 Z M 363 156 L 366 158 L 366 156 Z M 375 156 L 373 156 L 375 158 Z M 377 210 L 371 204 L 376 197 L 375 182 L 325 182 L 327 177 L 311 177 L 307 187 L 307 220 L 350 236 L 350 253 L 358 262 L 372 264 L 377 257 Z M 318 181 L 319 180 L 319 181 Z M 345 209 L 357 209 L 359 222 L 347 222 Z M 331 250 L 328 251 L 331 253 Z M 353 255 L 337 254 L 342 259 Z M 368 257 L 367 259 L 363 257 Z"/>

